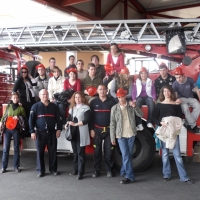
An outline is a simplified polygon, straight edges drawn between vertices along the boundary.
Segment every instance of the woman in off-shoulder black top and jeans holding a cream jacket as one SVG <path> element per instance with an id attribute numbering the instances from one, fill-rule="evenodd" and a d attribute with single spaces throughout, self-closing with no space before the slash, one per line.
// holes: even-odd
<path id="1" fill-rule="evenodd" d="M 163 122 L 165 117 L 178 117 L 182 118 L 181 106 L 178 105 L 180 102 L 175 101 L 176 95 L 173 89 L 169 86 L 163 86 L 160 90 L 159 94 L 160 103 L 158 103 L 155 107 L 154 111 L 154 122 L 157 126 L 167 127 L 169 124 Z M 169 149 L 166 148 L 166 143 L 160 140 L 162 147 L 162 162 L 163 162 L 163 178 L 164 181 L 169 181 L 171 179 L 171 167 L 169 161 Z M 183 165 L 183 160 L 180 154 L 180 143 L 179 136 L 175 139 L 175 145 L 172 149 L 174 159 L 176 162 L 176 166 L 178 169 L 178 173 L 180 176 L 180 181 L 184 181 L 186 183 L 193 183 L 191 179 L 188 178 L 187 173 L 185 171 L 185 167 Z"/>

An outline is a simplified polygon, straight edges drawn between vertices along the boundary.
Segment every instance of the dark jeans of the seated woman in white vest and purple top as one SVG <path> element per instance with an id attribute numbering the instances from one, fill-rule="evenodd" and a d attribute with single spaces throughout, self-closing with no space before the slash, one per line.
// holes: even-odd
<path id="1" fill-rule="evenodd" d="M 138 97 L 136 99 L 136 105 L 141 108 L 142 105 L 148 106 L 148 117 L 147 117 L 147 123 L 153 122 L 153 111 L 154 111 L 154 102 L 151 97 Z M 142 119 L 140 117 L 136 118 L 137 125 L 142 124 Z"/>

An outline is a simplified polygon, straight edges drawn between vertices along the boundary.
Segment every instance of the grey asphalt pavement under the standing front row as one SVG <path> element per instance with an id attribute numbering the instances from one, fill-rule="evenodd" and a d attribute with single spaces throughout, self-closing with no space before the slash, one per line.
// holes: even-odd
<path id="1" fill-rule="evenodd" d="M 1 145 L 0 145 L 1 146 Z M 0 148 L 2 155 L 2 148 Z M 107 178 L 104 166 L 99 178 L 92 178 L 93 157 L 87 155 L 86 173 L 82 180 L 70 176 L 73 156 L 58 154 L 58 176 L 48 172 L 48 153 L 45 154 L 46 175 L 37 178 L 36 152 L 21 152 L 20 173 L 14 172 L 13 156 L 9 157 L 8 172 L 0 174 L 0 199 L 2 200 L 188 200 L 198 199 L 200 192 L 200 163 L 183 158 L 189 177 L 195 182 L 179 181 L 174 159 L 171 158 L 172 179 L 163 181 L 162 160 L 156 155 L 153 163 L 143 172 L 136 173 L 136 181 L 122 185 L 123 179 L 115 170 Z"/>

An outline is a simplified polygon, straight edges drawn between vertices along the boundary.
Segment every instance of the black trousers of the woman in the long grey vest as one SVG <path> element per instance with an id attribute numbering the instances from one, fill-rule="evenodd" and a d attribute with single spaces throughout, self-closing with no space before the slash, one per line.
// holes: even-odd
<path id="1" fill-rule="evenodd" d="M 75 138 L 71 141 L 73 149 L 73 167 L 74 171 L 78 172 L 79 175 L 85 173 L 85 146 L 80 147 L 80 133 L 79 130 L 76 132 Z"/>

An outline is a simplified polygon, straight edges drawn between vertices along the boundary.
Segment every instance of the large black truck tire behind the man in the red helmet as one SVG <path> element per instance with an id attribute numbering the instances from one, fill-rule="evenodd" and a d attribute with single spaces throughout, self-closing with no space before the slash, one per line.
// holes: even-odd
<path id="1" fill-rule="evenodd" d="M 155 150 L 155 140 L 152 133 L 145 127 L 143 131 L 138 132 L 135 138 L 132 156 L 134 172 L 143 171 L 152 163 L 155 156 Z M 118 169 L 121 168 L 122 156 L 118 143 L 114 150 L 114 160 L 115 166 Z"/>

